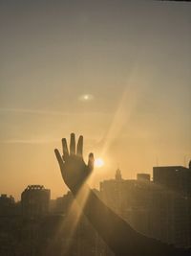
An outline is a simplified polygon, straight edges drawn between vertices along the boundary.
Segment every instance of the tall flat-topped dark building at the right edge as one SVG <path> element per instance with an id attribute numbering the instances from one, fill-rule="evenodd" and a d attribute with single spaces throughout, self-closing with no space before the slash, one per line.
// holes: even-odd
<path id="1" fill-rule="evenodd" d="M 191 163 L 191 162 L 190 162 Z M 191 164 L 153 168 L 155 194 L 154 233 L 170 244 L 191 246 Z M 166 227 L 165 227 L 166 226 Z"/>

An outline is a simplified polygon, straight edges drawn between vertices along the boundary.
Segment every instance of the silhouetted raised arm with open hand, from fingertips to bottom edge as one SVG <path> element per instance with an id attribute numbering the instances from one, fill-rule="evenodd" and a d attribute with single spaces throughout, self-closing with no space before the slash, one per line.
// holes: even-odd
<path id="1" fill-rule="evenodd" d="M 175 248 L 158 240 L 147 238 L 134 230 L 126 221 L 109 209 L 86 184 L 87 177 L 94 169 L 94 154 L 89 154 L 88 165 L 83 160 L 83 136 L 80 136 L 75 151 L 75 137 L 71 134 L 70 151 L 66 139 L 62 139 L 63 155 L 55 150 L 64 182 L 72 191 L 86 217 L 91 221 L 100 237 L 117 256 L 187 256 L 190 250 Z M 83 197 L 89 193 L 83 207 Z"/>

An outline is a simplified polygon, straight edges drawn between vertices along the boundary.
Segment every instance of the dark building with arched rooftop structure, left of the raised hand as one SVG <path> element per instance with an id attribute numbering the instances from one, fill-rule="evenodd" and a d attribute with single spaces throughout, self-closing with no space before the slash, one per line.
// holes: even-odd
<path id="1" fill-rule="evenodd" d="M 51 190 L 42 185 L 29 185 L 21 194 L 24 217 L 39 217 L 49 213 Z"/>

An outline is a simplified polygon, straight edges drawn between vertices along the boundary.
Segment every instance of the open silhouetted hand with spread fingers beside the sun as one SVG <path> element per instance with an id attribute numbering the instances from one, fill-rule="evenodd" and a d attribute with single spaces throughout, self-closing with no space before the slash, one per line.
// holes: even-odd
<path id="1" fill-rule="evenodd" d="M 64 182 L 76 194 L 94 169 L 94 154 L 89 154 L 88 165 L 83 160 L 83 136 L 79 136 L 75 152 L 75 136 L 71 134 L 70 153 L 66 139 L 62 139 L 63 155 L 54 150 Z"/>

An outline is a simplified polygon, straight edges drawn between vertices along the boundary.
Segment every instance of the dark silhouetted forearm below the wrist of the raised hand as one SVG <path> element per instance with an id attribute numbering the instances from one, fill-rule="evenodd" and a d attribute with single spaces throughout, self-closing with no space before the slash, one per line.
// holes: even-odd
<path id="1" fill-rule="evenodd" d="M 82 203 L 84 195 L 88 196 L 86 202 Z M 84 204 L 84 214 L 91 221 L 100 237 L 117 256 L 169 256 L 169 253 L 173 253 L 174 256 L 187 255 L 184 251 L 181 251 L 180 254 L 178 249 L 147 238 L 135 231 L 126 221 L 123 221 L 97 198 L 88 186 L 84 186 L 75 198 L 80 206 Z"/>

